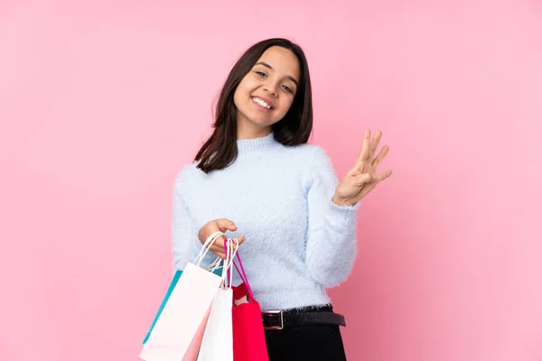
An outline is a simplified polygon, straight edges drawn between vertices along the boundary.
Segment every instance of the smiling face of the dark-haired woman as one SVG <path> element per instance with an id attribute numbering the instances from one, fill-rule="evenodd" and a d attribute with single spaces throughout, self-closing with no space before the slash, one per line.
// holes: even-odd
<path id="1" fill-rule="evenodd" d="M 281 120 L 294 102 L 300 72 L 292 51 L 279 46 L 267 49 L 233 95 L 238 129 L 263 132 Z"/>

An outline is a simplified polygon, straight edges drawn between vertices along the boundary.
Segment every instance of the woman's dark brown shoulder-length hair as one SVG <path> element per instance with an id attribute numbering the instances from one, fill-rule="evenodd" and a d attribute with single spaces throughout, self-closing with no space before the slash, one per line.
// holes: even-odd
<path id="1" fill-rule="evenodd" d="M 301 47 L 282 38 L 267 39 L 248 48 L 229 72 L 228 79 L 220 91 L 216 107 L 214 131 L 201 146 L 194 161 L 200 161 L 198 168 L 210 171 L 227 168 L 238 156 L 237 148 L 237 108 L 233 94 L 240 81 L 254 67 L 262 54 L 272 46 L 280 46 L 294 53 L 299 60 L 301 79 L 294 102 L 280 121 L 273 125 L 276 141 L 284 145 L 307 143 L 313 130 L 313 99 L 309 67 Z"/>

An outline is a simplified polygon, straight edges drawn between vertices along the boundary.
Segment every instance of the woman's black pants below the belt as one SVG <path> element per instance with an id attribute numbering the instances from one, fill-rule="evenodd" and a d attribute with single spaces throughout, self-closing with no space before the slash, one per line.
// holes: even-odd
<path id="1" fill-rule="evenodd" d="M 319 310 L 329 311 L 332 308 Z M 335 325 L 302 325 L 268 329 L 266 344 L 269 361 L 346 360 L 339 328 Z"/>

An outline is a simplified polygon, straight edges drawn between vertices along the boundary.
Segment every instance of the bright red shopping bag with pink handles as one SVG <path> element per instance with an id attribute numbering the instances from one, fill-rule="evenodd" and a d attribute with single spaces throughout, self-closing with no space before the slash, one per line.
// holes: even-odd
<path id="1" fill-rule="evenodd" d="M 237 287 L 232 287 L 233 359 L 268 361 L 262 312 L 250 289 L 239 254 L 237 260 L 238 264 L 234 263 L 234 266 L 242 282 Z"/>

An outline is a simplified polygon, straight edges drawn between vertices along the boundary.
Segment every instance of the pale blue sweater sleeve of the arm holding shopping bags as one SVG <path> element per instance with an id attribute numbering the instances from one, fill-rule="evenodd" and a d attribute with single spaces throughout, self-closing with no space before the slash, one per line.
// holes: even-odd
<path id="1" fill-rule="evenodd" d="M 182 270 L 192 260 L 192 248 L 198 241 L 197 231 L 193 229 L 192 219 L 182 199 L 182 172 L 177 175 L 173 186 L 172 240 L 174 272 Z"/>

